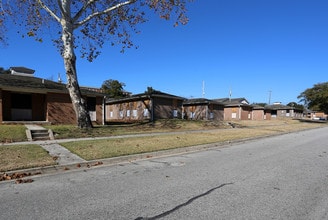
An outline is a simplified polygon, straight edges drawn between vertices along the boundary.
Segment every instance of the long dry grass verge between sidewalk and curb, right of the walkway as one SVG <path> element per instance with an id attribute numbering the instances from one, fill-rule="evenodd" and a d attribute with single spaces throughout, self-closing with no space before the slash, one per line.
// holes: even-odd
<path id="1" fill-rule="evenodd" d="M 212 129 L 198 132 L 154 135 L 148 137 L 112 138 L 62 143 L 64 147 L 86 160 L 153 152 L 200 144 L 219 143 L 245 138 L 310 129 L 326 124 L 301 123 L 296 120 L 238 122 L 235 129 Z"/>

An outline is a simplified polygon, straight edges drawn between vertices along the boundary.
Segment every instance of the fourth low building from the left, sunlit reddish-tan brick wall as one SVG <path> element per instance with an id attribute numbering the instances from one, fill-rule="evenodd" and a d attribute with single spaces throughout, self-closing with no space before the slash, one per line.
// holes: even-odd
<path id="1" fill-rule="evenodd" d="M 252 120 L 252 106 L 245 98 L 214 99 L 224 105 L 224 120 Z"/>

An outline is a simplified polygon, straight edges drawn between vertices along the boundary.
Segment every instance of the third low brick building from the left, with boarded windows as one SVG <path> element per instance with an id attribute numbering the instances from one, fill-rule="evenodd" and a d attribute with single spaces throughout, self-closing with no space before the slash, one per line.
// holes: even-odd
<path id="1" fill-rule="evenodd" d="M 190 120 L 220 120 L 224 119 L 224 107 L 217 101 L 198 98 L 183 102 L 184 119 Z"/>

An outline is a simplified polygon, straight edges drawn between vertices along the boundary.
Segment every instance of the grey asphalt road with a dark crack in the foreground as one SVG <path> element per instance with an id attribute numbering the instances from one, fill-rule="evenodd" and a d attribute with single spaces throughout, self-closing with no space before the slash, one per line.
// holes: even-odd
<path id="1" fill-rule="evenodd" d="M 328 219 L 328 127 L 0 183 L 0 219 Z"/>

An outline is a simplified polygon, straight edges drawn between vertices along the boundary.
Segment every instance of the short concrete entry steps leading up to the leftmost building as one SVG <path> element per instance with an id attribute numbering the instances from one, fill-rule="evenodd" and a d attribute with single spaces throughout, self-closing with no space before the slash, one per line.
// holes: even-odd
<path id="1" fill-rule="evenodd" d="M 25 125 L 27 127 L 26 136 L 29 141 L 54 140 L 51 129 L 47 130 L 39 125 Z"/>

